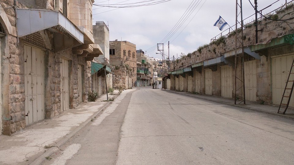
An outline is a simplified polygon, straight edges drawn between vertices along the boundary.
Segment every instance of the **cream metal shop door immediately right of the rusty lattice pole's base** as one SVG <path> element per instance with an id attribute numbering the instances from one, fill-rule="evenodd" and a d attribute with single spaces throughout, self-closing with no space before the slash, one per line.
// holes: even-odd
<path id="1" fill-rule="evenodd" d="M 244 62 L 245 98 L 248 101 L 256 101 L 257 77 L 256 60 Z"/>

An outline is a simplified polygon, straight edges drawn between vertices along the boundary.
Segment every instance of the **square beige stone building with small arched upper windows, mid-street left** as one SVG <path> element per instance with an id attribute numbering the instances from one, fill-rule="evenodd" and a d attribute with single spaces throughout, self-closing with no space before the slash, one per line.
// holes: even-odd
<path id="1" fill-rule="evenodd" d="M 110 63 L 113 71 L 113 88 L 128 89 L 137 78 L 136 45 L 128 41 L 109 42 Z"/>

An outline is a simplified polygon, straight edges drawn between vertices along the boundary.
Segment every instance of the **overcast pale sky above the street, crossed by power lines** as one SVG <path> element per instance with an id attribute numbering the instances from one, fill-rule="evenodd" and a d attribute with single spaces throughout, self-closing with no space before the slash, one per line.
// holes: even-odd
<path id="1" fill-rule="evenodd" d="M 142 2 L 142 0 L 103 1 L 105 0 L 95 0 L 94 4 L 108 5 L 119 2 L 122 2 L 121 4 Z M 93 21 L 104 21 L 109 25 L 110 41 L 115 39 L 119 41 L 126 40 L 136 44 L 137 50 L 142 49 L 145 51 L 156 46 L 157 43 L 168 35 L 192 1 L 193 0 L 171 0 L 157 5 L 118 9 L 110 7 L 101 8 L 93 5 Z M 275 1 L 277 0 L 258 0 L 258 9 L 263 9 Z M 251 0 L 251 2 L 254 3 L 254 0 Z M 190 17 L 169 39 L 170 57 L 173 55 L 176 57 L 177 54 L 179 56 L 180 53 L 187 54 L 193 52 L 197 50 L 199 46 L 209 43 L 211 38 L 220 34 L 221 31 L 213 26 L 219 15 L 222 16 L 230 26 L 235 24 L 236 0 L 196 0 L 196 3 L 199 3 L 198 7 L 191 12 Z M 269 13 L 283 3 L 285 3 L 285 0 L 280 0 L 276 4 L 265 9 L 262 13 Z M 198 10 L 199 12 L 197 13 Z M 254 8 L 250 5 L 248 0 L 243 0 L 243 17 L 247 18 L 252 14 L 254 14 Z M 194 18 L 192 19 L 193 16 Z M 254 16 L 244 20 L 244 22 L 252 21 L 253 17 Z M 189 23 L 190 20 L 191 22 Z M 95 23 L 93 22 L 93 24 Z M 229 28 L 229 26 L 226 26 L 224 30 L 227 28 Z M 183 32 L 179 34 L 182 30 Z M 164 46 L 165 54 L 168 54 L 167 42 Z M 156 52 L 156 49 L 152 49 L 151 51 L 147 51 L 146 54 L 150 57 L 161 58 L 160 55 L 155 54 Z"/>

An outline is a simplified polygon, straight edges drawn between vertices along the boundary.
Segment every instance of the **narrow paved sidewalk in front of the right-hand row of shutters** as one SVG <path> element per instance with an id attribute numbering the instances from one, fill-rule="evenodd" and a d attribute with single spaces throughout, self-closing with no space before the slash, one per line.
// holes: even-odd
<path id="1" fill-rule="evenodd" d="M 239 102 L 237 102 L 237 105 L 234 105 L 233 99 L 224 98 L 224 97 L 220 97 L 220 96 L 212 96 L 212 95 L 205 95 L 205 94 L 192 94 L 189 92 L 181 92 L 181 91 L 175 91 L 175 90 L 163 90 L 163 91 L 173 92 L 173 93 L 182 94 L 182 95 L 186 95 L 186 96 L 190 96 L 190 97 L 196 97 L 196 98 L 200 98 L 200 99 L 204 99 L 204 100 L 208 100 L 208 101 L 213 101 L 213 102 L 217 102 L 217 103 L 221 103 L 221 104 L 238 106 L 238 107 L 247 108 L 247 109 L 258 111 L 258 112 L 264 112 L 264 113 L 269 113 L 269 114 L 273 114 L 273 115 L 277 115 L 277 116 L 281 116 L 281 117 L 286 117 L 289 119 L 294 119 L 294 109 L 292 109 L 292 108 L 288 108 L 286 111 L 286 114 L 283 115 L 283 114 L 277 113 L 279 107 L 276 105 L 262 105 L 262 104 L 258 104 L 258 103 L 252 102 L 252 101 L 246 101 L 246 105 L 244 105 L 243 103 L 238 104 Z M 284 110 L 284 109 L 282 109 L 282 110 Z"/>

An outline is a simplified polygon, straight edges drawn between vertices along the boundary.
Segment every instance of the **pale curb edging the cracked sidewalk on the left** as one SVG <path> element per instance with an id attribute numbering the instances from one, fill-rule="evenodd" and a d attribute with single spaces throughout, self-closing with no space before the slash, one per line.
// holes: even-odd
<path id="1" fill-rule="evenodd" d="M 120 95 L 120 94 L 119 94 Z M 118 97 L 119 95 L 116 95 L 114 98 Z M 54 152 L 56 152 L 62 145 L 64 145 L 71 137 L 74 136 L 79 130 L 81 130 L 83 127 L 85 127 L 87 124 L 89 124 L 92 120 L 92 118 L 98 116 L 101 112 L 103 112 L 104 109 L 106 109 L 111 104 L 111 101 L 107 102 L 103 107 L 101 107 L 97 112 L 95 112 L 93 115 L 91 115 L 86 121 L 81 123 L 77 128 L 75 128 L 73 131 L 71 131 L 66 136 L 60 138 L 58 142 L 55 144 L 54 147 L 51 147 L 50 149 L 47 149 L 41 156 L 36 158 L 30 165 L 41 165 L 45 161 L 45 157 L 51 156 Z"/>

